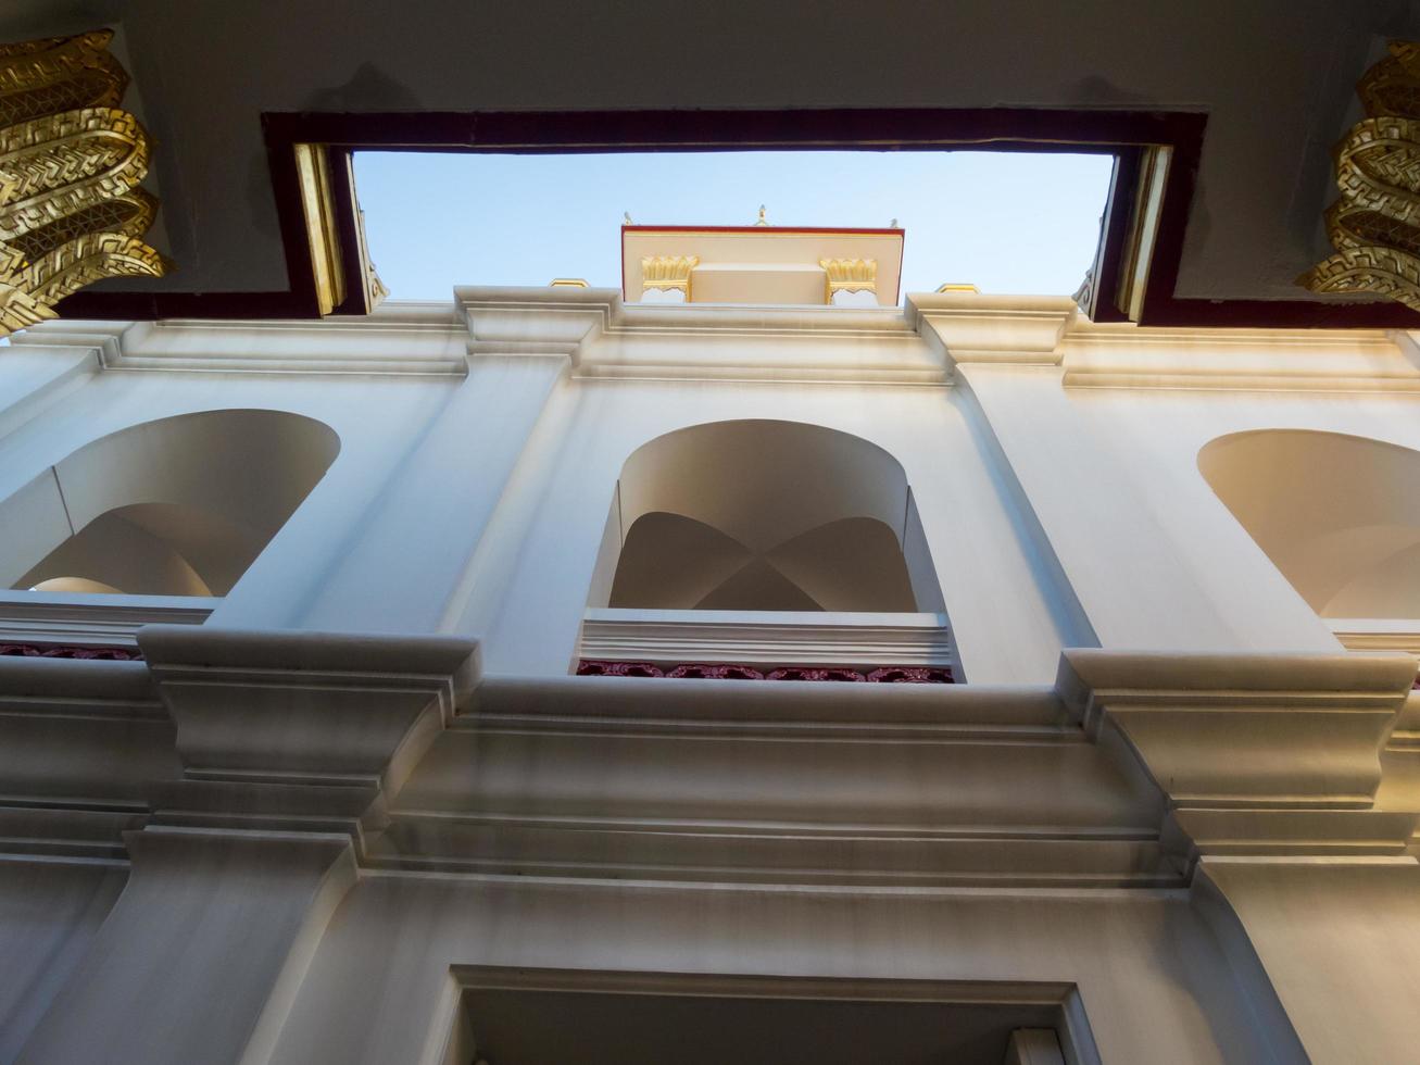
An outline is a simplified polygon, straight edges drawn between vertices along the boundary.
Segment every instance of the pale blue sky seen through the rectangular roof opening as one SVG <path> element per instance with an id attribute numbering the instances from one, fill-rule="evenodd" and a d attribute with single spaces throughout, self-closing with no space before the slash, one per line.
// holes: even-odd
<path id="1" fill-rule="evenodd" d="M 906 229 L 903 291 L 1068 295 L 1095 257 L 1110 159 L 1020 152 L 358 152 L 371 258 L 395 300 L 456 284 L 619 287 L 639 224 Z"/>

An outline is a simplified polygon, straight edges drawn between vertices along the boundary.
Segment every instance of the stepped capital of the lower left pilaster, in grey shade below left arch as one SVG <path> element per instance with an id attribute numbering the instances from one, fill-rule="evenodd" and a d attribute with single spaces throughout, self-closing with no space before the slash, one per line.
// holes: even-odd
<path id="1" fill-rule="evenodd" d="M 152 625 L 138 640 L 182 760 L 149 791 L 153 824 L 362 843 L 479 676 L 477 645 L 453 636 Z"/>

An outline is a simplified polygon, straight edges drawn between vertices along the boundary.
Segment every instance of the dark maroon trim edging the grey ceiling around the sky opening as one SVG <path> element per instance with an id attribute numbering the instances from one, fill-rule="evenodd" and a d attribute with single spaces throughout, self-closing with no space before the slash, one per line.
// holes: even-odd
<path id="1" fill-rule="evenodd" d="M 1174 295 L 1193 204 L 1207 115 L 1183 111 L 1066 111 L 1049 108 L 893 108 L 807 111 L 484 111 L 267 112 L 261 116 L 271 189 L 285 251 L 288 287 L 258 293 L 78 293 L 64 317 L 84 318 L 314 318 L 310 250 L 295 185 L 295 143 L 331 145 L 337 222 L 346 293 L 341 314 L 364 311 L 364 278 L 352 261 L 354 196 L 345 176 L 352 151 L 409 152 L 699 152 L 758 149 L 872 149 L 1108 153 L 1120 159 L 1100 256 L 1098 314 L 1113 307 L 1123 236 L 1137 172 L 1137 146 L 1172 145 L 1173 165 L 1150 263 L 1142 324 L 1194 327 L 1417 328 L 1420 314 L 1390 302 L 1316 300 L 1181 300 Z M 344 186 L 344 187 L 342 187 Z M 1126 195 L 1129 193 L 1129 195 Z M 700 227 L 704 229 L 704 227 Z M 352 298 L 358 302 L 352 302 Z"/>

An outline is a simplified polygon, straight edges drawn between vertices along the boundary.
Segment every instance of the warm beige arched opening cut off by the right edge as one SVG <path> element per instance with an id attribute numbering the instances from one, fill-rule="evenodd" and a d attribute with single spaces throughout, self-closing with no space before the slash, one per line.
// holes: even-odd
<path id="1" fill-rule="evenodd" d="M 1420 452 L 1262 429 L 1198 452 L 1204 479 L 1323 618 L 1420 618 Z"/>

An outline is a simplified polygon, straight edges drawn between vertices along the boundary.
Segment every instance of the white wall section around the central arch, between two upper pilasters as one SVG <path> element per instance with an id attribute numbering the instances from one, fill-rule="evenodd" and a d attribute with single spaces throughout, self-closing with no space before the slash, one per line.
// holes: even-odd
<path id="1" fill-rule="evenodd" d="M 902 463 L 968 679 L 1054 677 L 1069 640 L 951 389 L 584 379 L 551 402 L 456 626 L 483 638 L 487 672 L 568 670 L 606 508 L 632 452 L 690 425 L 767 417 L 853 433 Z"/>

